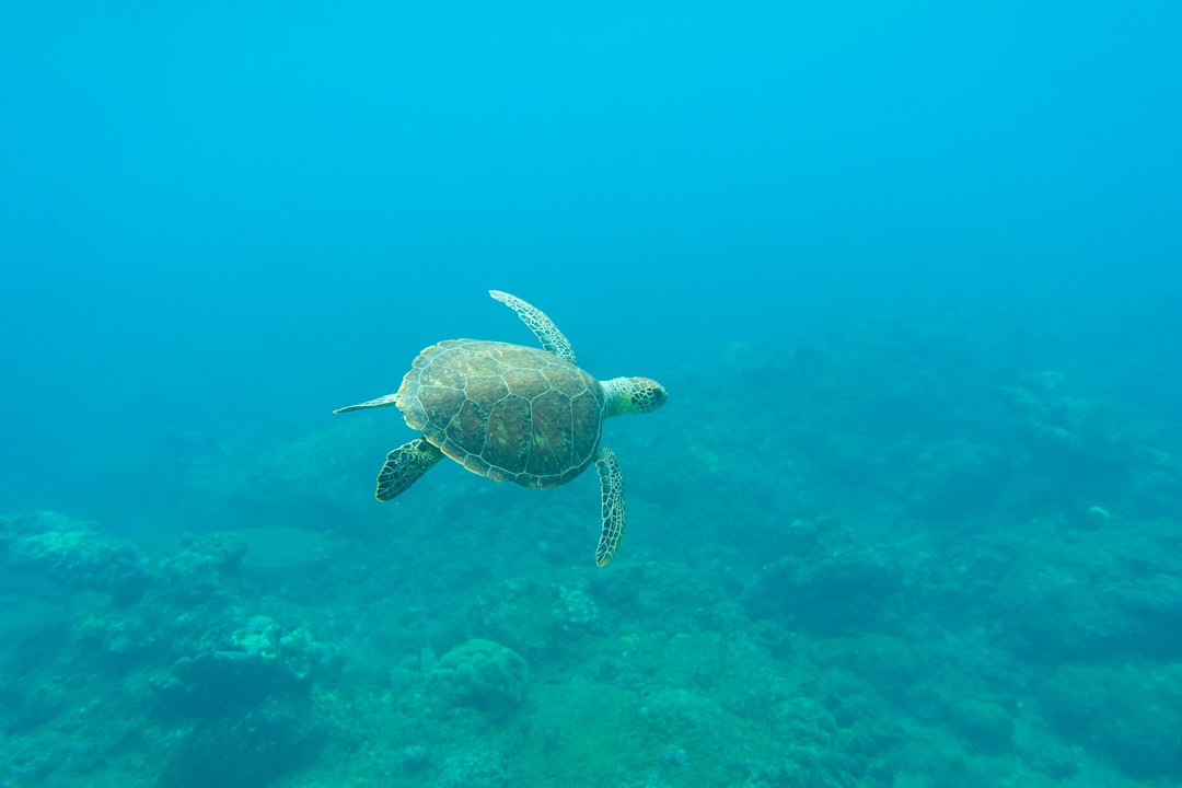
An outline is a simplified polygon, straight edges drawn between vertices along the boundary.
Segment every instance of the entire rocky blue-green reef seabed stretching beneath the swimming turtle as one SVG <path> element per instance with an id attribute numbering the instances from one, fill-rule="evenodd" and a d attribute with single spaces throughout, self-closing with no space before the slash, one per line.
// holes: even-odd
<path id="1" fill-rule="evenodd" d="M 0 783 L 1182 781 L 1176 430 L 986 325 L 735 343 L 663 376 L 660 437 L 612 435 L 667 461 L 629 467 L 608 571 L 574 560 L 590 480 L 450 468 L 369 507 L 350 451 L 390 441 L 364 418 L 279 462 L 186 443 L 180 500 L 209 516 L 175 543 L 0 517 Z M 314 552 L 258 560 L 278 540 Z"/>

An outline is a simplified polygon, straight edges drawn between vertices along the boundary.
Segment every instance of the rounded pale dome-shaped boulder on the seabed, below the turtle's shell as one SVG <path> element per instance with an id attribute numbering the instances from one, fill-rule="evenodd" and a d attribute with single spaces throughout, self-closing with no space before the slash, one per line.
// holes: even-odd
<path id="1" fill-rule="evenodd" d="M 448 706 L 468 706 L 500 718 L 521 705 L 527 679 L 525 659 L 515 651 L 473 639 L 440 658 L 431 670 L 430 688 Z"/>

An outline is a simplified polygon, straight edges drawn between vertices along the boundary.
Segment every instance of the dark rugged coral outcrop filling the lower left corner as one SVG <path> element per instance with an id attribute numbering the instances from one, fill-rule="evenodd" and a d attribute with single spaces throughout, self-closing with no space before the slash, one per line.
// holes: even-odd
<path id="1" fill-rule="evenodd" d="M 64 760 L 43 748 L 47 757 L 13 774 L 53 774 L 65 784 L 69 769 L 85 780 L 103 762 L 96 748 L 121 740 L 141 740 L 155 756 L 125 768 L 164 787 L 265 784 L 314 755 L 323 725 L 311 690 L 335 670 L 336 650 L 306 627 L 242 612 L 249 597 L 235 575 L 240 539 L 186 536 L 180 552 L 150 559 L 89 523 L 43 512 L 4 517 L 2 542 L 18 577 L 82 594 L 71 600 L 79 614 L 26 632 L 4 653 L 7 670 L 26 666 L 0 676 L 0 692 L 14 702 L 2 719 L 13 738 L 0 755 L 34 751 L 60 731 L 84 743 L 66 744 Z M 111 714 L 119 724 L 109 724 Z"/>

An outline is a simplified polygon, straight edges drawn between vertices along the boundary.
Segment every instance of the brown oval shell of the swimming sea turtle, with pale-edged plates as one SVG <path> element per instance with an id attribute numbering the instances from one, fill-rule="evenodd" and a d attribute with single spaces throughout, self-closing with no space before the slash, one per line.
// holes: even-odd
<path id="1" fill-rule="evenodd" d="M 591 464 L 603 386 L 558 356 L 449 339 L 415 358 L 398 389 L 407 424 L 474 474 L 522 487 L 564 484 Z"/>

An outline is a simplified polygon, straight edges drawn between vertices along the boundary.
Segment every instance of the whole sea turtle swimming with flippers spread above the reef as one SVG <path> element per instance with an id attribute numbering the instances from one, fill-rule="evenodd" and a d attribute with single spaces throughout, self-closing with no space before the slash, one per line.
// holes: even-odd
<path id="1" fill-rule="evenodd" d="M 576 366 L 571 343 L 541 310 L 501 291 L 488 294 L 518 313 L 543 350 L 448 339 L 415 358 L 397 392 L 333 412 L 397 405 L 422 432 L 385 456 L 379 501 L 404 493 L 444 456 L 474 474 L 538 489 L 565 484 L 593 462 L 603 510 L 596 564 L 606 566 L 625 513 L 619 462 L 599 444 L 603 419 L 656 410 L 668 395 L 649 378 L 596 380 Z"/>

